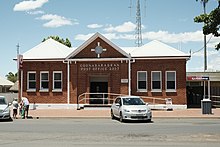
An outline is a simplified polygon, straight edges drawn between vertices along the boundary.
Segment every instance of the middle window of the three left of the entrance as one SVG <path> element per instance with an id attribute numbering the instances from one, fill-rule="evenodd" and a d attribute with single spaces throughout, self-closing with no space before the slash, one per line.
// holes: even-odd
<path id="1" fill-rule="evenodd" d="M 49 89 L 49 72 L 42 71 L 40 73 L 40 91 L 48 91 Z"/>

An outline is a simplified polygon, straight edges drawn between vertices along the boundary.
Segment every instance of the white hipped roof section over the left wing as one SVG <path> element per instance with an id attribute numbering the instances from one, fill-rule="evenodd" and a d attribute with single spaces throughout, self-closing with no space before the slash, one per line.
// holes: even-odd
<path id="1" fill-rule="evenodd" d="M 73 49 L 48 39 L 23 54 L 24 60 L 65 59 Z"/>

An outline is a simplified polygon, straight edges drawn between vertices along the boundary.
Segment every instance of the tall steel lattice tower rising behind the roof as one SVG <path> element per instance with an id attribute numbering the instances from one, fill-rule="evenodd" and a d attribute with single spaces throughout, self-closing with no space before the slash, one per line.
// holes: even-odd
<path id="1" fill-rule="evenodd" d="M 136 40 L 135 40 L 135 44 L 136 44 L 138 47 L 142 46 L 140 0 L 137 0 L 135 39 L 136 39 Z"/>

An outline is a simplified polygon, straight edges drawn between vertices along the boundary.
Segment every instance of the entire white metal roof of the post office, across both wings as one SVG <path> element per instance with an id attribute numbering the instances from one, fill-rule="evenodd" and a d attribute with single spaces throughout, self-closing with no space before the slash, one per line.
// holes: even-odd
<path id="1" fill-rule="evenodd" d="M 97 37 L 100 34 L 95 34 Z M 104 38 L 103 36 L 101 36 Z M 104 38 L 107 40 L 106 38 Z M 88 42 L 88 41 L 87 41 Z M 108 41 L 109 43 L 110 41 Z M 112 43 L 113 44 L 113 43 Z M 131 56 L 133 58 L 147 58 L 147 57 L 185 57 L 190 55 L 179 51 L 171 46 L 168 46 L 160 41 L 154 40 L 141 47 L 117 47 L 121 53 Z M 68 59 L 76 51 L 82 50 L 82 45 L 79 48 L 69 48 L 53 39 L 48 39 L 45 42 L 33 47 L 23 54 L 24 60 L 52 60 L 52 59 Z"/>

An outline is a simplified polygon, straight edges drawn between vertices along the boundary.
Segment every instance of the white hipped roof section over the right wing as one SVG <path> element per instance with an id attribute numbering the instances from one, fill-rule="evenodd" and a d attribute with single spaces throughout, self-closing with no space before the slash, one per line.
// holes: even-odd
<path id="1" fill-rule="evenodd" d="M 185 57 L 189 54 L 183 53 L 160 41 L 153 40 L 141 47 L 125 47 L 122 49 L 131 54 L 131 57 Z"/>

